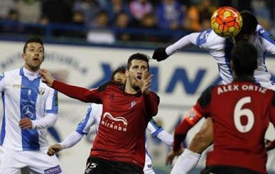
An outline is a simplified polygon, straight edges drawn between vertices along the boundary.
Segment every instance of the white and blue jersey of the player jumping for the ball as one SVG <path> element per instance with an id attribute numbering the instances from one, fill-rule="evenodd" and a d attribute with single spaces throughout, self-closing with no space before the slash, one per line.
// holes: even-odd
<path id="1" fill-rule="evenodd" d="M 214 33 L 213 30 L 195 32 L 188 34 L 179 39 L 173 45 L 166 48 L 166 54 L 169 56 L 188 45 L 197 45 L 207 50 L 218 64 L 219 74 L 224 84 L 233 80 L 232 68 L 230 67 L 230 52 L 234 46 L 232 39 L 225 39 Z M 275 54 L 275 41 L 272 35 L 267 32 L 261 25 L 256 28 L 256 35 L 253 39 L 253 45 L 259 53 L 259 67 L 254 72 L 256 83 L 268 89 L 275 90 L 274 82 L 271 80 L 271 74 L 265 66 L 265 55 L 268 53 Z"/>

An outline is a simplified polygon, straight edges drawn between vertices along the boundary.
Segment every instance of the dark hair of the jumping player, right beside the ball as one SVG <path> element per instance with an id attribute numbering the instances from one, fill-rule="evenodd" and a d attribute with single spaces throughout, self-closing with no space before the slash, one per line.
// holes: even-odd
<path id="1" fill-rule="evenodd" d="M 258 20 L 254 14 L 248 10 L 243 10 L 241 12 L 241 17 L 243 19 L 243 27 L 241 28 L 239 34 L 236 35 L 237 40 L 241 40 L 243 36 L 254 34 L 258 25 Z"/>

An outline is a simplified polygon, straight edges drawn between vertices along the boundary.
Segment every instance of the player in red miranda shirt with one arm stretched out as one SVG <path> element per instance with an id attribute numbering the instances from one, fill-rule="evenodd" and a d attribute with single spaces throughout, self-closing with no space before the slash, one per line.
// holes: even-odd
<path id="1" fill-rule="evenodd" d="M 145 130 L 157 114 L 159 97 L 149 91 L 151 78 L 148 56 L 129 57 L 126 84 L 108 82 L 98 89 L 61 83 L 41 69 L 43 81 L 63 94 L 83 102 L 103 104 L 98 134 L 85 173 L 142 173 L 145 159 Z"/>

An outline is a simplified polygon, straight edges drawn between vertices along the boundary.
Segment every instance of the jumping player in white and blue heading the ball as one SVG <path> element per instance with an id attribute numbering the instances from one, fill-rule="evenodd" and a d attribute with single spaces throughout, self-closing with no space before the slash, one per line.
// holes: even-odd
<path id="1" fill-rule="evenodd" d="M 175 54 L 175 52 L 179 51 L 181 48 L 196 45 L 207 50 L 210 55 L 213 56 L 219 67 L 219 74 L 223 80 L 223 84 L 227 84 L 231 83 L 233 80 L 232 67 L 229 58 L 232 47 L 239 41 L 247 41 L 252 43 L 258 50 L 258 67 L 254 72 L 256 83 L 259 83 L 262 87 L 275 90 L 274 82 L 271 80 L 272 76 L 265 66 L 265 54 L 267 52 L 275 54 L 275 41 L 272 39 L 272 35 L 258 24 L 256 17 L 254 17 L 251 12 L 243 11 L 241 12 L 241 16 L 243 19 L 243 27 L 239 34 L 234 38 L 225 39 L 218 36 L 213 30 L 195 32 L 184 36 L 179 39 L 179 41 L 166 48 L 157 48 L 153 53 L 153 58 L 157 61 L 163 61 L 168 58 L 168 56 Z M 187 133 L 187 131 L 193 127 L 201 117 L 202 116 L 194 116 L 191 120 L 187 114 L 187 116 L 184 117 L 184 131 Z M 184 153 L 178 159 L 184 160 L 184 165 L 186 166 L 184 171 L 182 171 L 184 173 L 190 171 L 190 169 L 197 164 L 201 157 L 201 153 L 212 144 L 211 139 L 206 138 L 206 135 L 204 135 L 204 137 L 201 136 L 201 132 L 203 131 L 208 132 L 208 136 L 211 137 L 212 121 L 210 118 L 206 119 L 199 132 L 195 134 L 194 138 L 192 138 L 192 141 L 188 145 L 188 149 L 185 149 Z M 186 134 L 182 136 L 185 138 Z M 206 139 L 203 140 L 203 138 Z M 180 142 L 175 142 L 175 144 L 180 144 Z M 273 149 L 274 147 L 275 141 L 267 144 L 268 150 Z M 170 164 L 175 155 L 179 155 L 181 151 L 182 150 L 179 146 L 173 148 L 173 151 L 171 151 L 167 157 L 166 164 Z"/>

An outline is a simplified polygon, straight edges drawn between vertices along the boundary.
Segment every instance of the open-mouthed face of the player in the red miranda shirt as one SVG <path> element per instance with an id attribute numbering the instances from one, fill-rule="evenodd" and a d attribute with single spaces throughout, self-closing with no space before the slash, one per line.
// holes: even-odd
<path id="1" fill-rule="evenodd" d="M 146 61 L 142 60 L 133 60 L 131 66 L 128 69 L 126 76 L 129 78 L 130 85 L 133 89 L 140 89 L 135 80 L 146 79 L 149 75 L 148 65 Z M 135 80 L 134 80 L 135 79 Z"/>

